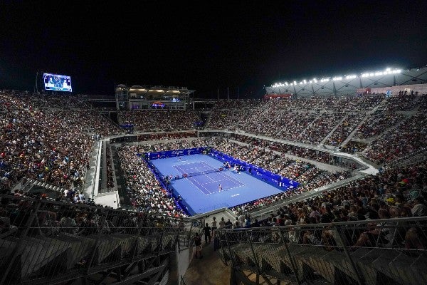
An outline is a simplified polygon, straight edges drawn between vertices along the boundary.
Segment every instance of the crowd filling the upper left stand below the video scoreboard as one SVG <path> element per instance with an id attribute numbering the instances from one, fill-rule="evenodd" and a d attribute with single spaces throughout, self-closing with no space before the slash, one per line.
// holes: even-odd
<path id="1" fill-rule="evenodd" d="M 23 177 L 64 188 L 81 187 L 93 142 L 120 129 L 95 111 L 37 104 L 33 108 L 34 101 L 20 93 L 0 93 L 1 188 L 10 190 Z"/>

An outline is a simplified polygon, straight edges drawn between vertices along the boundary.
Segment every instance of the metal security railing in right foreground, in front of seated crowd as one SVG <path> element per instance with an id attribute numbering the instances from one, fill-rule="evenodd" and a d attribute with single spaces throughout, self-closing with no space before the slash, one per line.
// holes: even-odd
<path id="1" fill-rule="evenodd" d="M 290 284 L 427 284 L 427 217 L 216 234 L 224 263 L 264 278 Z"/>

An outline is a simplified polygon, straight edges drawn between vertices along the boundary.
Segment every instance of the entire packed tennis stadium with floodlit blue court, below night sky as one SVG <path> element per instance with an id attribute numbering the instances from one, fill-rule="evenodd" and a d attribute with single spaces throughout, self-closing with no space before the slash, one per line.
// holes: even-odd
<path id="1" fill-rule="evenodd" d="M 0 285 L 427 284 L 426 65 L 201 96 L 174 61 L 98 93 L 67 62 L 0 82 Z"/>

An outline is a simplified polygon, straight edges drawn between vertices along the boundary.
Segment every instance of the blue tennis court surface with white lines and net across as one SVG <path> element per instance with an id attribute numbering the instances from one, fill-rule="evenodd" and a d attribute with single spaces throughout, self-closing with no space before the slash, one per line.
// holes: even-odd
<path id="1" fill-rule="evenodd" d="M 152 160 L 152 164 L 164 176 L 182 177 L 188 173 L 210 172 L 172 180 L 171 186 L 191 207 L 189 210 L 194 214 L 233 207 L 286 190 L 265 183 L 246 172 L 240 174 L 232 170 L 211 172 L 223 167 L 223 163 L 209 155 L 169 157 Z"/>

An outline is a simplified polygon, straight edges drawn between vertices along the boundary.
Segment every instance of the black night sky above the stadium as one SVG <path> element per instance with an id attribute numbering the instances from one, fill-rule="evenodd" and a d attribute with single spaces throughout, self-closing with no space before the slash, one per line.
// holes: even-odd
<path id="1" fill-rule="evenodd" d="M 260 95 L 275 81 L 427 64 L 427 1 L 0 1 L 0 88 L 36 71 Z"/>

